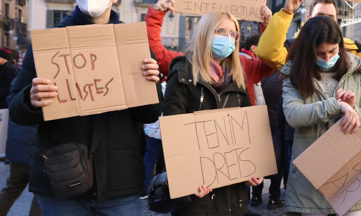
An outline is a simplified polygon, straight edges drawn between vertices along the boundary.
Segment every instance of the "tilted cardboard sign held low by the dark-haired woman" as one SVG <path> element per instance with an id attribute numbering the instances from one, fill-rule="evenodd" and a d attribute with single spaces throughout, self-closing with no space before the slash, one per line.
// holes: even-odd
<path id="1" fill-rule="evenodd" d="M 293 161 L 338 215 L 361 200 L 361 130 L 346 135 L 341 123 L 339 120 Z"/>

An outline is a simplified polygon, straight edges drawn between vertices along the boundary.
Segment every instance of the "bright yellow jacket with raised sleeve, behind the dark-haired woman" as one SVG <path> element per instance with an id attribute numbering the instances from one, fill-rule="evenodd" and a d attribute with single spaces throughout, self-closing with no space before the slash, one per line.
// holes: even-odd
<path id="1" fill-rule="evenodd" d="M 278 13 L 275 13 L 266 30 L 263 32 L 256 49 L 258 58 L 262 59 L 268 66 L 277 71 L 279 71 L 287 61 L 288 52 L 283 44 L 286 41 L 286 34 L 291 25 L 292 18 L 293 13 L 287 10 L 281 9 Z M 302 23 L 301 26 L 303 26 L 303 24 L 304 23 Z M 297 38 L 299 33 L 300 31 L 298 31 L 293 38 Z M 361 57 L 361 53 L 358 52 L 355 42 L 347 38 L 343 40 L 345 48 L 349 50 L 350 53 Z"/>

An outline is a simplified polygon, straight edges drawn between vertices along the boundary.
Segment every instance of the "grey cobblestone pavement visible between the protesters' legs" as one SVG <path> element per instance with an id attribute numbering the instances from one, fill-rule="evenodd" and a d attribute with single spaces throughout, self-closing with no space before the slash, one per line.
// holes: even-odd
<path id="1" fill-rule="evenodd" d="M 8 176 L 9 166 L 0 162 L 0 189 L 4 188 L 6 184 L 6 178 L 8 178 Z M 265 203 L 262 206 L 251 209 L 257 213 L 260 213 L 262 216 L 283 216 L 283 209 L 272 211 L 267 209 L 268 196 L 268 194 L 263 195 L 263 200 Z M 282 197 L 284 197 L 284 193 L 282 194 Z M 19 197 L 14 206 L 11 208 L 8 216 L 28 216 L 31 199 L 32 194 L 29 193 L 28 189 L 26 188 L 21 197 Z M 160 215 L 149 211 L 146 200 L 142 200 L 142 213 L 143 216 L 170 216 L 170 214 Z"/>

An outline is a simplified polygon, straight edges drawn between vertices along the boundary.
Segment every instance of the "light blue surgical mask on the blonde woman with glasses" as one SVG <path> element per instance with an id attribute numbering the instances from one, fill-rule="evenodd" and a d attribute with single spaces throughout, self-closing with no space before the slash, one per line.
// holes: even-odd
<path id="1" fill-rule="evenodd" d="M 212 55 L 217 60 L 227 58 L 236 49 L 235 42 L 231 37 L 222 37 L 218 35 L 213 35 L 211 48 Z"/>

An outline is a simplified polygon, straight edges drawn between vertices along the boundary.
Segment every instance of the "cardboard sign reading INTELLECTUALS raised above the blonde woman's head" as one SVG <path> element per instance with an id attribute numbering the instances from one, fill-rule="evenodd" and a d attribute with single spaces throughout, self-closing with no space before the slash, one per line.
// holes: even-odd
<path id="1" fill-rule="evenodd" d="M 266 0 L 179 0 L 174 10 L 196 15 L 225 10 L 238 19 L 263 22 L 261 9 L 265 4 Z"/>

